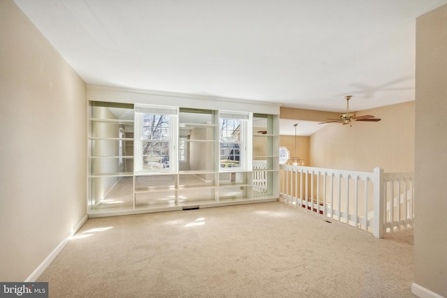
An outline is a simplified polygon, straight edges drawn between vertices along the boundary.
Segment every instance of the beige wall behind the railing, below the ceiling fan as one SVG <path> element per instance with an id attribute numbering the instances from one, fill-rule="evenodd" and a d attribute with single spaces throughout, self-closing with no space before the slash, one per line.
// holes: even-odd
<path id="1" fill-rule="evenodd" d="M 310 137 L 310 165 L 365 172 L 372 172 L 374 167 L 382 167 L 385 172 L 413 172 L 414 105 L 409 101 L 356 113 L 372 114 L 381 118 L 379 122 L 326 125 Z"/>

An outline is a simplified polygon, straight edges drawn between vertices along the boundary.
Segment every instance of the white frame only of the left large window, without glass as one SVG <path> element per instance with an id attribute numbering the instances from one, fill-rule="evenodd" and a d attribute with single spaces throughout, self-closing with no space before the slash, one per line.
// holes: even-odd
<path id="1" fill-rule="evenodd" d="M 144 169 L 143 168 L 143 154 L 142 154 L 142 125 L 144 114 L 161 114 L 169 117 L 169 167 L 163 169 Z M 133 165 L 135 173 L 160 173 L 160 172 L 177 172 L 178 167 L 178 107 L 161 106 L 161 105 L 135 105 L 135 134 L 134 134 L 134 157 Z M 165 141 L 161 141 L 165 142 Z"/>

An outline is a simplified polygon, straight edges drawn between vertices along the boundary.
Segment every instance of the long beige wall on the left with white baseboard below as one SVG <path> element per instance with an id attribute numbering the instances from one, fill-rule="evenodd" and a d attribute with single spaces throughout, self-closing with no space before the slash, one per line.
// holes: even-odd
<path id="1" fill-rule="evenodd" d="M 87 213 L 86 87 L 0 1 L 0 281 L 24 281 Z"/>

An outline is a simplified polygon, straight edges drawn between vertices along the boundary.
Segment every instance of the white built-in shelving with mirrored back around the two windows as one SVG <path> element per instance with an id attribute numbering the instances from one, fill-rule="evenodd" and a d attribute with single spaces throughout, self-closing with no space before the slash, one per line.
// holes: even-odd
<path id="1" fill-rule="evenodd" d="M 90 216 L 213 207 L 276 200 L 279 194 L 279 116 L 254 114 L 247 167 L 221 156 L 219 110 L 178 108 L 175 155 L 166 169 L 135 171 L 133 104 L 90 101 Z M 258 133 L 265 131 L 265 133 Z M 253 133 L 251 133 L 253 132 Z M 228 142 L 227 142 L 228 144 Z M 135 145 L 136 146 L 136 145 Z M 231 168 L 234 166 L 234 168 Z"/>

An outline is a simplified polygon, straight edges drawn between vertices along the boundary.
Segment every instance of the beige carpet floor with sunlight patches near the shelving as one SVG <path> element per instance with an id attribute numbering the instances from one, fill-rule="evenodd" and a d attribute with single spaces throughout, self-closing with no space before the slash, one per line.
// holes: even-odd
<path id="1" fill-rule="evenodd" d="M 415 297 L 413 230 L 376 239 L 282 202 L 90 218 L 50 297 Z"/>

